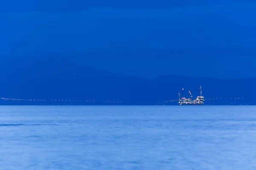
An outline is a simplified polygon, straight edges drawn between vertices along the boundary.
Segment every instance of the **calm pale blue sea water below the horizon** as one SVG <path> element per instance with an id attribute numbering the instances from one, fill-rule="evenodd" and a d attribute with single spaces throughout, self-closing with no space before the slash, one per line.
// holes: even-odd
<path id="1" fill-rule="evenodd" d="M 1 170 L 255 170 L 256 107 L 1 106 Z"/>

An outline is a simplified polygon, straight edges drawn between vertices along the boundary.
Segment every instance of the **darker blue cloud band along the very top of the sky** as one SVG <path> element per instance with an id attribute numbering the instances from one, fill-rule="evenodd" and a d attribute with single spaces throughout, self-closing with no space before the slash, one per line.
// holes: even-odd
<path id="1" fill-rule="evenodd" d="M 50 3 L 44 0 L 23 0 L 4 1 L 0 6 L 1 11 L 80 11 L 88 8 L 175 8 L 184 6 L 204 6 L 204 5 L 218 5 L 230 3 L 254 3 L 254 0 L 52 0 Z M 14 5 L 15 4 L 15 5 Z"/>

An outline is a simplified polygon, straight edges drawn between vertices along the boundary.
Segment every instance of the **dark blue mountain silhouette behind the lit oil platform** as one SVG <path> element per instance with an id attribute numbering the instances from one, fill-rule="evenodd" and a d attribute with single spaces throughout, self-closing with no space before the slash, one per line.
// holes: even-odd
<path id="1" fill-rule="evenodd" d="M 0 62 L 0 97 L 19 99 L 81 99 L 122 101 L 124 105 L 155 105 L 184 94 L 206 98 L 243 98 L 256 104 L 256 77 L 212 79 L 164 76 L 147 80 L 124 77 L 62 59 L 15 59 Z M 198 71 L 201 71 L 198 69 Z"/>

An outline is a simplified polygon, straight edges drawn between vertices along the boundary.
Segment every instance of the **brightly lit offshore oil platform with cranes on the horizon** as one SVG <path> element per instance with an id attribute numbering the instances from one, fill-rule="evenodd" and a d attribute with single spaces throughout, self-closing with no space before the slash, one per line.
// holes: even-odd
<path id="1" fill-rule="evenodd" d="M 193 99 L 191 92 L 189 91 L 190 98 L 184 97 L 184 89 L 182 89 L 182 97 L 179 93 L 179 104 L 180 105 L 204 105 L 204 97 L 202 96 L 202 86 L 200 86 L 199 96 Z"/>

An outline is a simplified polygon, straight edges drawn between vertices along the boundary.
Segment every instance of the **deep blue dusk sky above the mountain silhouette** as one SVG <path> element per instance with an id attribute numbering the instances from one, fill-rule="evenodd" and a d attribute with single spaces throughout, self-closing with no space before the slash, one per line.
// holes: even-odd
<path id="1" fill-rule="evenodd" d="M 116 74 L 256 76 L 253 0 L 9 0 L 0 57 L 63 57 Z"/>

